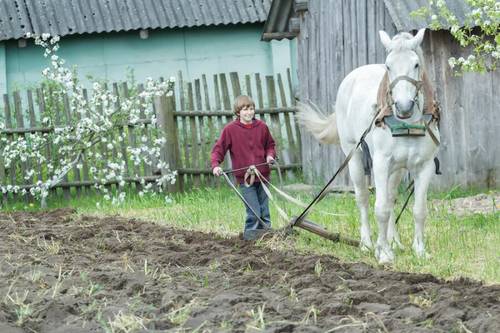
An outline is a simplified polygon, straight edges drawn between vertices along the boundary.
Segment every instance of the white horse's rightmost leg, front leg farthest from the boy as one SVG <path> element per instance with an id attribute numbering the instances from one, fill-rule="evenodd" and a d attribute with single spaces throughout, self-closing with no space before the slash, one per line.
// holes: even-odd
<path id="1" fill-rule="evenodd" d="M 413 250 L 417 256 L 426 257 L 424 244 L 424 226 L 427 217 L 427 190 L 434 174 L 433 160 L 428 161 L 415 177 L 415 204 L 413 205 L 413 218 L 415 219 L 415 235 Z"/>

